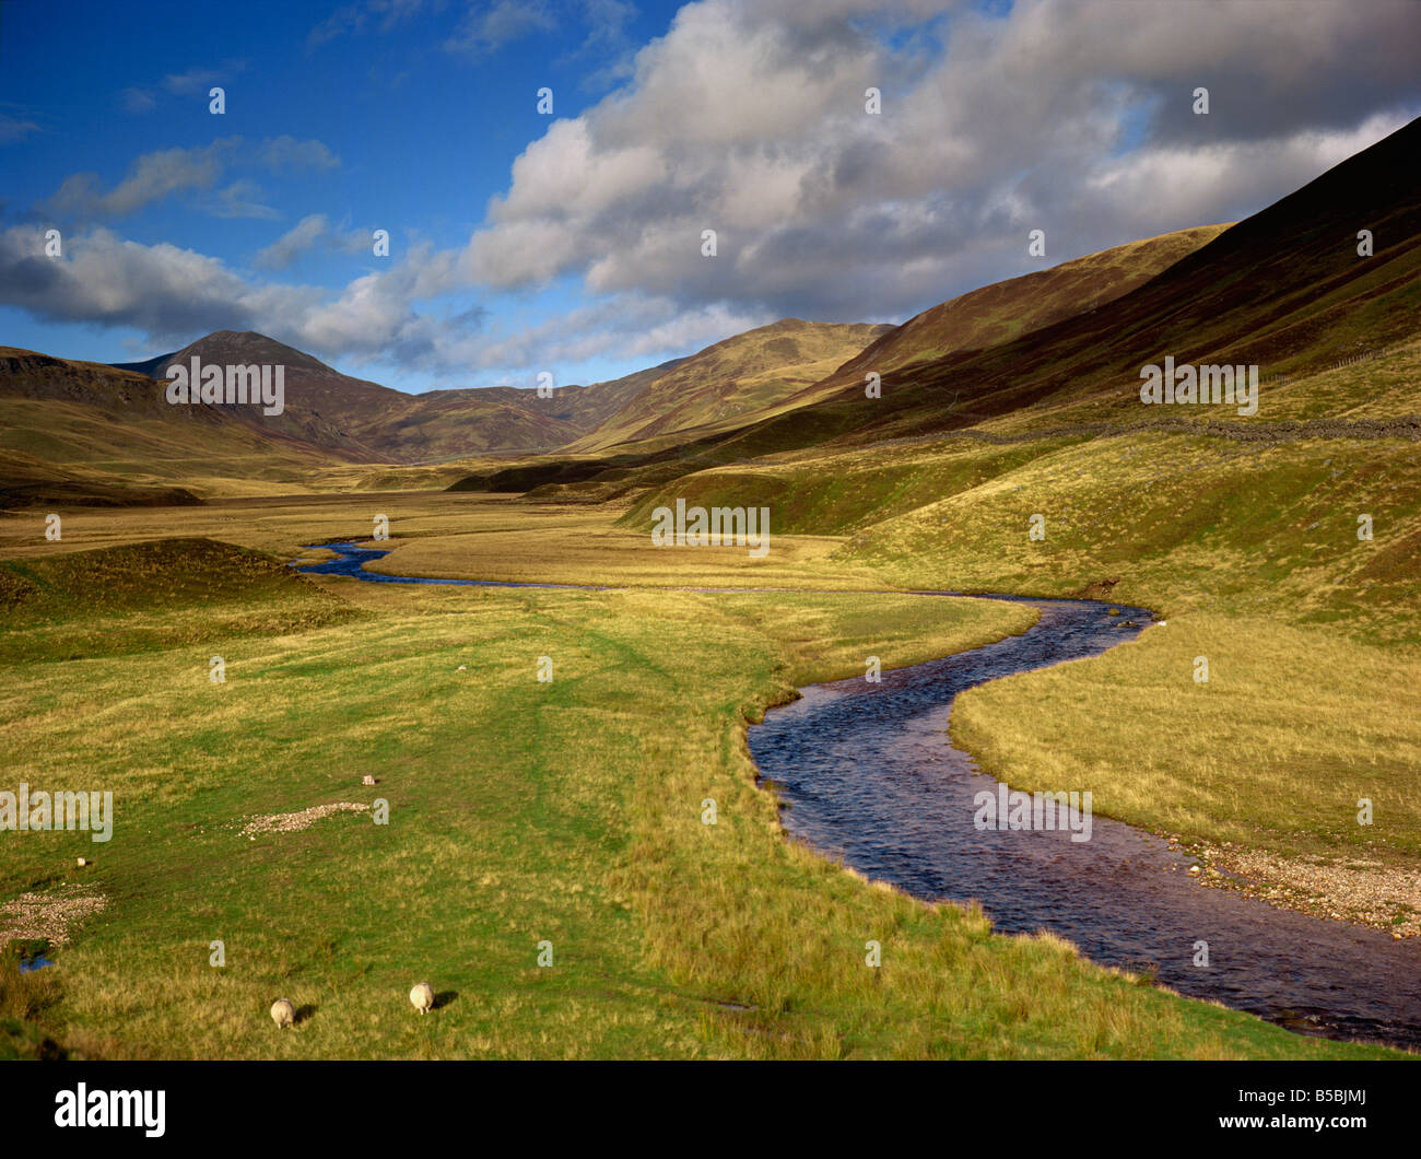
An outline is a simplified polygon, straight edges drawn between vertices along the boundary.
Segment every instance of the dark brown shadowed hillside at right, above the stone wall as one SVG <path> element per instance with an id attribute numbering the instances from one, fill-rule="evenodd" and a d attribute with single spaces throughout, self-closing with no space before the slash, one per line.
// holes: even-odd
<path id="1" fill-rule="evenodd" d="M 1374 252 L 1358 256 L 1357 235 Z M 1421 334 L 1421 121 L 1349 158 L 1107 306 L 986 350 L 905 365 L 720 441 L 722 459 L 917 435 L 1002 420 L 1160 420 L 1140 402 L 1140 368 L 1256 364 L 1256 421 L 1276 378 L 1302 377 Z M 1235 408 L 1172 407 L 1168 418 L 1238 418 Z M 1226 412 L 1225 412 L 1226 410 Z M 813 412 L 813 417 L 810 415 Z"/>

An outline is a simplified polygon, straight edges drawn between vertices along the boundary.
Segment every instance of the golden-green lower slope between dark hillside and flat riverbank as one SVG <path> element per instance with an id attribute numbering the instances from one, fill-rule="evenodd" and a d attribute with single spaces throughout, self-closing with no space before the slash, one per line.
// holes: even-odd
<path id="1" fill-rule="evenodd" d="M 1417 437 L 1421 427 L 1411 438 L 944 437 L 702 471 L 620 522 L 649 529 L 672 495 L 767 506 L 779 532 L 851 535 L 836 559 L 912 586 L 1071 594 L 1104 583 L 1155 607 L 1385 620 L 1388 634 L 1421 639 L 1408 611 L 1421 597 Z M 1027 538 L 1033 515 L 1044 542 Z M 1357 539 L 1361 515 L 1371 540 Z"/>

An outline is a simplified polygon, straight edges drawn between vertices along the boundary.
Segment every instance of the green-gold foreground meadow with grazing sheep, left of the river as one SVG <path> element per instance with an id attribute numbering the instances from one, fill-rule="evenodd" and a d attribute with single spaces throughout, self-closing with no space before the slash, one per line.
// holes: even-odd
<path id="1" fill-rule="evenodd" d="M 870 646 L 908 663 L 1020 630 L 1022 609 L 333 586 L 358 621 L 291 631 L 284 593 L 257 593 L 273 620 L 225 641 L 226 685 L 199 643 L 9 668 L 11 776 L 84 769 L 118 821 L 104 846 L 0 846 L 6 896 L 84 882 L 108 899 L 28 993 L 0 971 L 0 1021 L 38 1018 L 11 1018 L 7 1049 L 48 1034 L 108 1057 L 1380 1054 L 1177 1000 L 1052 939 L 990 937 L 783 839 L 746 715 L 860 671 Z M 232 828 L 375 795 L 388 826 Z M 408 1005 L 421 978 L 443 995 L 436 1017 Z M 276 1031 L 277 995 L 311 1017 Z"/>

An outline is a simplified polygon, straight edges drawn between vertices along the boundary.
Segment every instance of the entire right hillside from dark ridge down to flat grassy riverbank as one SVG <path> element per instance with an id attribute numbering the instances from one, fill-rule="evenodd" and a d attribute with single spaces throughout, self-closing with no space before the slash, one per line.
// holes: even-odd
<path id="1" fill-rule="evenodd" d="M 693 466 L 728 465 L 659 481 L 621 522 L 675 496 L 769 505 L 782 530 L 853 533 L 827 563 L 901 584 L 1155 609 L 1169 627 L 1108 657 L 968 693 L 956 734 L 1013 785 L 1093 784 L 1097 808 L 1191 840 L 1366 870 L 1317 904 L 1418 933 L 1418 138 L 1421 121 L 1108 309 L 888 374 L 881 405 L 858 390 L 701 448 Z M 1376 257 L 1356 253 L 1361 219 Z M 1138 367 L 1164 353 L 1260 363 L 1259 414 L 1141 407 Z M 1107 703 L 1123 711 L 1087 710 Z"/>

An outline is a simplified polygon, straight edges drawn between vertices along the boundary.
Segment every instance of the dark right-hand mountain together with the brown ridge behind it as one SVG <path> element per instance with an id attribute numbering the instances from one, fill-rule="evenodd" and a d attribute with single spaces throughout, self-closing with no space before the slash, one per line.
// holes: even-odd
<path id="1" fill-rule="evenodd" d="M 767 468 L 770 455 L 776 462 L 797 452 L 823 456 L 963 428 L 1025 439 L 1047 431 L 1088 438 L 1140 425 L 1327 424 L 1353 415 L 1404 425 L 1421 412 L 1408 378 L 1415 360 L 1398 350 L 1421 334 L 1418 146 L 1421 119 L 1238 225 L 1106 250 L 934 307 L 729 429 L 684 431 L 679 445 L 612 448 L 601 466 L 583 459 L 571 474 L 566 462 L 549 462 L 540 478 L 530 465 L 519 482 L 584 501 L 655 499 L 708 468 L 729 484 L 735 472 Z M 1360 229 L 1371 232 L 1371 256 L 1357 252 Z M 1098 293 L 1077 277 L 1087 270 L 1101 277 Z M 1107 300 L 1114 290 L 1118 296 Z M 941 343 L 953 341 L 953 320 L 966 336 L 956 341 L 968 344 L 939 353 Z M 975 344 L 1013 331 L 1005 341 Z M 1388 347 L 1391 361 L 1377 373 L 1341 370 Z M 1259 412 L 1142 405 L 1141 367 L 1165 356 L 1178 364 L 1256 364 Z M 880 358 L 887 367 L 881 397 L 867 398 L 863 371 Z M 658 387 L 671 381 L 666 375 Z M 830 471 L 826 478 L 840 476 Z M 716 502 L 729 502 L 733 491 L 722 488 Z M 814 502 L 809 492 L 803 501 Z"/>

